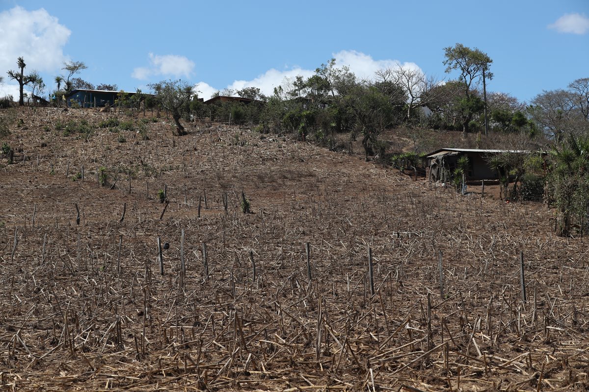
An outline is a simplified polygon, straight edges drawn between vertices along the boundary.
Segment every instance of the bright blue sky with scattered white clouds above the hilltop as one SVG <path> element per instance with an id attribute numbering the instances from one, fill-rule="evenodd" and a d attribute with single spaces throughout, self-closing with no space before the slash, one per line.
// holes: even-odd
<path id="1" fill-rule="evenodd" d="M 75 60 L 94 85 L 146 91 L 181 78 L 204 98 L 227 87 L 271 93 L 332 57 L 366 78 L 400 63 L 449 80 L 444 48 L 458 42 L 493 59 L 488 91 L 530 100 L 589 77 L 589 0 L 0 0 L 0 94 L 15 92 L 6 71 L 18 56 L 51 88 Z"/>

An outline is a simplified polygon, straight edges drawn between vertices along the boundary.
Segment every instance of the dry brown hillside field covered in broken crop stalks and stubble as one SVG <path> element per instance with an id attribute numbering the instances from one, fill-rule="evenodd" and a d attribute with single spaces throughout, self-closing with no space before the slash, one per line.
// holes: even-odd
<path id="1" fill-rule="evenodd" d="M 587 246 L 554 237 L 545 206 L 226 125 L 55 130 L 116 116 L 17 113 L 0 390 L 589 387 Z"/>

